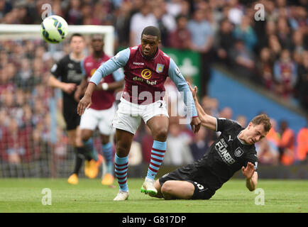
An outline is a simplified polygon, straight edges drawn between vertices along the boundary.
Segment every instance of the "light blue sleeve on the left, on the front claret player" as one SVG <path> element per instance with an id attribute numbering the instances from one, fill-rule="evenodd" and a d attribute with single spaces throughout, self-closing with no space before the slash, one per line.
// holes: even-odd
<path id="1" fill-rule="evenodd" d="M 99 84 L 101 78 L 119 70 L 119 68 L 126 65 L 129 59 L 131 50 L 129 48 L 118 52 L 114 57 L 101 64 L 101 66 L 94 72 L 89 82 Z"/>

